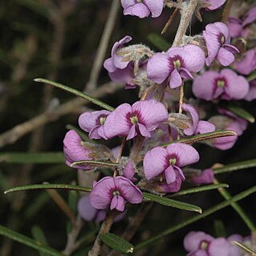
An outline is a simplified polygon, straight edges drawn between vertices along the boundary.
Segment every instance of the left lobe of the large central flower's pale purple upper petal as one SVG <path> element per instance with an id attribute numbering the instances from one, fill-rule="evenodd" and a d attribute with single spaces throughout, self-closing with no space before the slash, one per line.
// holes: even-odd
<path id="1" fill-rule="evenodd" d="M 127 136 L 132 126 L 128 114 L 132 112 L 129 104 L 121 104 L 111 112 L 104 123 L 104 134 L 108 139 L 114 136 Z"/>

